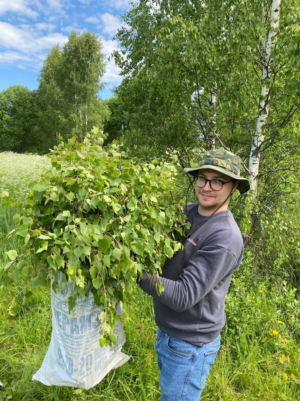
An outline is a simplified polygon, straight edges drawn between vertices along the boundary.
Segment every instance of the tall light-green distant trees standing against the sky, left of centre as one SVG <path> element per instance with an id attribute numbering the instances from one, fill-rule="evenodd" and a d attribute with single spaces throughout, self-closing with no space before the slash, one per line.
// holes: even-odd
<path id="1" fill-rule="evenodd" d="M 97 34 L 72 32 L 60 49 L 54 46 L 39 74 L 38 124 L 35 132 L 46 147 L 58 136 L 79 140 L 92 128 L 103 127 L 108 107 L 98 98 L 105 73 L 102 43 Z"/>

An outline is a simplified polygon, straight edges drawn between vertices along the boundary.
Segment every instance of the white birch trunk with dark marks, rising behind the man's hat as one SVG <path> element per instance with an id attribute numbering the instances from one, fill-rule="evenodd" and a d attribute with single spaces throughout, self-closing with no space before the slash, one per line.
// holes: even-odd
<path id="1" fill-rule="evenodd" d="M 269 112 L 269 103 L 270 103 L 270 85 L 269 84 L 267 85 L 267 83 L 270 82 L 271 78 L 270 50 L 274 46 L 274 41 L 272 39 L 278 32 L 280 2 L 281 0 L 272 1 L 268 41 L 266 43 L 265 39 L 262 40 L 264 59 L 262 60 L 263 67 L 262 67 L 261 102 L 259 105 L 256 130 L 254 138 L 252 140 L 252 148 L 250 151 L 250 159 L 249 159 L 249 172 L 250 172 L 249 178 L 251 180 L 250 189 L 254 190 L 254 198 L 256 197 L 257 194 L 260 146 L 262 145 L 262 142 L 264 142 L 264 133 L 262 132 L 262 128 L 266 124 Z M 266 23 L 264 18 L 264 3 L 262 3 L 262 22 L 264 24 Z M 268 79 L 268 81 L 266 81 L 266 79 Z"/>

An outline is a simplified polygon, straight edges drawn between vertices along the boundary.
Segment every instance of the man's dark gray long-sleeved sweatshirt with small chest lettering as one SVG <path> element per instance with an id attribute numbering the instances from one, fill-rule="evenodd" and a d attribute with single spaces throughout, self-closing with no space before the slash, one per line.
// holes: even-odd
<path id="1" fill-rule="evenodd" d="M 205 219 L 198 203 L 188 207 L 194 231 Z M 153 297 L 155 322 L 165 333 L 189 342 L 214 340 L 225 324 L 225 296 L 244 252 L 242 235 L 230 210 L 216 213 L 196 230 L 162 268 L 164 291 L 144 271 L 142 290 Z"/>

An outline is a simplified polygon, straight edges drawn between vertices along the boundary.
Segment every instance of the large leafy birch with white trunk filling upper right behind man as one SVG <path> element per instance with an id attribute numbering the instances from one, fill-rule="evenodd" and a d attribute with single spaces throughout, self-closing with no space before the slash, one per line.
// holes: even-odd
<path id="1" fill-rule="evenodd" d="M 299 0 L 140 0 L 116 34 L 122 141 L 151 157 L 176 149 L 182 167 L 214 146 L 237 153 L 252 191 L 232 211 L 266 275 L 291 274 L 300 255 L 299 10 Z"/>

